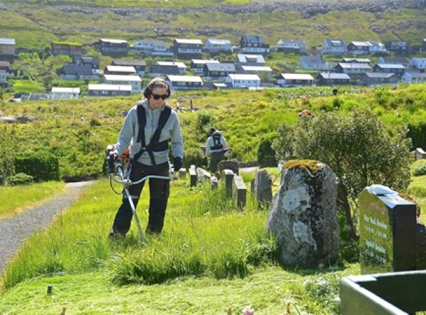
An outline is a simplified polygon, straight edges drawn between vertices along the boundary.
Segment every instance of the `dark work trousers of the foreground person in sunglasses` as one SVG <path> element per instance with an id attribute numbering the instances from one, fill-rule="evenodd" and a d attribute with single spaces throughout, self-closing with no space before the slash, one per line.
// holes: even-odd
<path id="1" fill-rule="evenodd" d="M 169 176 L 168 163 L 162 163 L 157 165 L 154 170 L 153 166 L 141 164 L 139 162 L 132 162 L 132 170 L 130 172 L 131 181 L 139 181 L 142 177 L 148 175 L 160 175 Z M 164 224 L 164 216 L 166 215 L 167 200 L 170 195 L 170 180 L 166 179 L 148 179 L 150 181 L 150 216 L 148 219 L 148 226 L 146 228 L 147 233 L 161 233 Z M 129 188 L 130 195 L 134 208 L 136 208 L 145 181 L 137 185 L 132 185 Z M 114 219 L 114 225 L 112 226 L 114 233 L 125 234 L 130 229 L 130 222 L 132 222 L 132 208 L 130 203 L 123 192 L 123 203 Z"/>

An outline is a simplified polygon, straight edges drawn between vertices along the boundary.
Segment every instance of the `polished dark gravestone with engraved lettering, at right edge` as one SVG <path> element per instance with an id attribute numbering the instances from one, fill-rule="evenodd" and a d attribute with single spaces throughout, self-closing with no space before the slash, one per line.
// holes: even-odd
<path id="1" fill-rule="evenodd" d="M 386 186 L 360 193 L 361 273 L 416 270 L 416 204 Z"/>

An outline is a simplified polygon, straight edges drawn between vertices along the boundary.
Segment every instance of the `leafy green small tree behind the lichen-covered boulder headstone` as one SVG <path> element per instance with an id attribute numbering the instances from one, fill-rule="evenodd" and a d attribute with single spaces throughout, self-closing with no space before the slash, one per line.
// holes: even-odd
<path id="1" fill-rule="evenodd" d="M 327 113 L 301 118 L 281 126 L 273 144 L 278 161 L 314 159 L 326 163 L 339 177 L 338 202 L 344 208 L 350 234 L 355 237 L 350 201 L 375 183 L 405 191 L 409 185 L 412 156 L 407 128 L 392 130 L 369 109 L 355 109 L 347 116 Z"/>

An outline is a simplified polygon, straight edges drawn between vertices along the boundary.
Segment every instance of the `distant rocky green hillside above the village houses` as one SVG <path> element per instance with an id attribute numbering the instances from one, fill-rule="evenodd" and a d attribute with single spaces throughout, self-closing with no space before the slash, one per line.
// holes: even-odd
<path id="1" fill-rule="evenodd" d="M 54 40 L 92 44 L 100 37 L 128 39 L 130 43 L 159 37 L 168 44 L 175 37 L 217 37 L 238 44 L 244 34 L 262 35 L 271 45 L 281 38 L 305 39 L 310 47 L 321 45 L 326 37 L 386 42 L 398 40 L 398 36 L 411 44 L 420 44 L 426 31 L 426 8 L 387 12 L 336 10 L 305 15 L 294 6 L 276 6 L 263 12 L 257 12 L 260 5 L 252 5 L 256 10 L 246 6 L 241 12 L 214 10 L 215 6 L 247 5 L 249 1 L 245 0 L 211 1 L 208 5 L 213 9 L 209 10 L 202 7 L 206 5 L 203 1 L 99 0 L 84 7 L 85 1 L 26 2 L 7 3 L 7 10 L 0 11 L 2 37 L 13 37 L 17 46 L 24 48 L 42 48 Z M 46 6 L 47 3 L 55 5 Z M 82 7 L 75 6 L 76 3 Z M 183 6 L 186 7 L 182 9 Z"/>

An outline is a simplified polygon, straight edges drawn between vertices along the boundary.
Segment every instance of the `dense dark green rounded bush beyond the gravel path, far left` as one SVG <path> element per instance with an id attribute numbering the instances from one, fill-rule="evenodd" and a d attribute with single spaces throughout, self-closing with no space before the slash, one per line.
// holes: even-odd
<path id="1" fill-rule="evenodd" d="M 34 181 L 57 181 L 59 161 L 51 152 L 22 152 L 15 157 L 15 171 L 29 174 Z"/>

